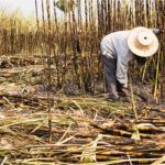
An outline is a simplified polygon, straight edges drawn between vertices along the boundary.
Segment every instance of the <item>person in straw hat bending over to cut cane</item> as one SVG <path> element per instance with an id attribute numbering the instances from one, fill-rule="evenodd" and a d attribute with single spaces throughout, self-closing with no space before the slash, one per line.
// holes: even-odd
<path id="1" fill-rule="evenodd" d="M 106 73 L 106 87 L 110 100 L 127 97 L 123 88 L 128 88 L 128 65 L 132 59 L 144 64 L 146 57 L 158 50 L 157 29 L 143 26 L 129 31 L 119 31 L 106 35 L 101 41 L 102 63 Z"/>

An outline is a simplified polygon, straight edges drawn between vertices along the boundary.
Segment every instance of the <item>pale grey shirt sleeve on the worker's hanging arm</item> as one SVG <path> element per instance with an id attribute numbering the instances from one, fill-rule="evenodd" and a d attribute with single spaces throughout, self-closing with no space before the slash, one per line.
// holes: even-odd
<path id="1" fill-rule="evenodd" d="M 117 61 L 117 79 L 123 86 L 128 86 L 128 65 L 129 62 L 122 56 L 118 56 Z"/>

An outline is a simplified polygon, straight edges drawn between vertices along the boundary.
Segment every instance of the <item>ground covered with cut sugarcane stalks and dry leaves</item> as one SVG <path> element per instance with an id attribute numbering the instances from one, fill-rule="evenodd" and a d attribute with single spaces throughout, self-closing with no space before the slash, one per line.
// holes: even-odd
<path id="1" fill-rule="evenodd" d="M 48 144 L 42 62 L 40 57 L 1 57 L 1 164 L 151 164 L 165 155 L 165 103 L 152 99 L 148 86 L 143 87 L 147 102 L 135 96 L 134 110 L 131 102 L 110 102 L 101 92 L 78 95 L 69 88 L 75 95 L 69 96 L 53 86 L 53 141 Z"/>

